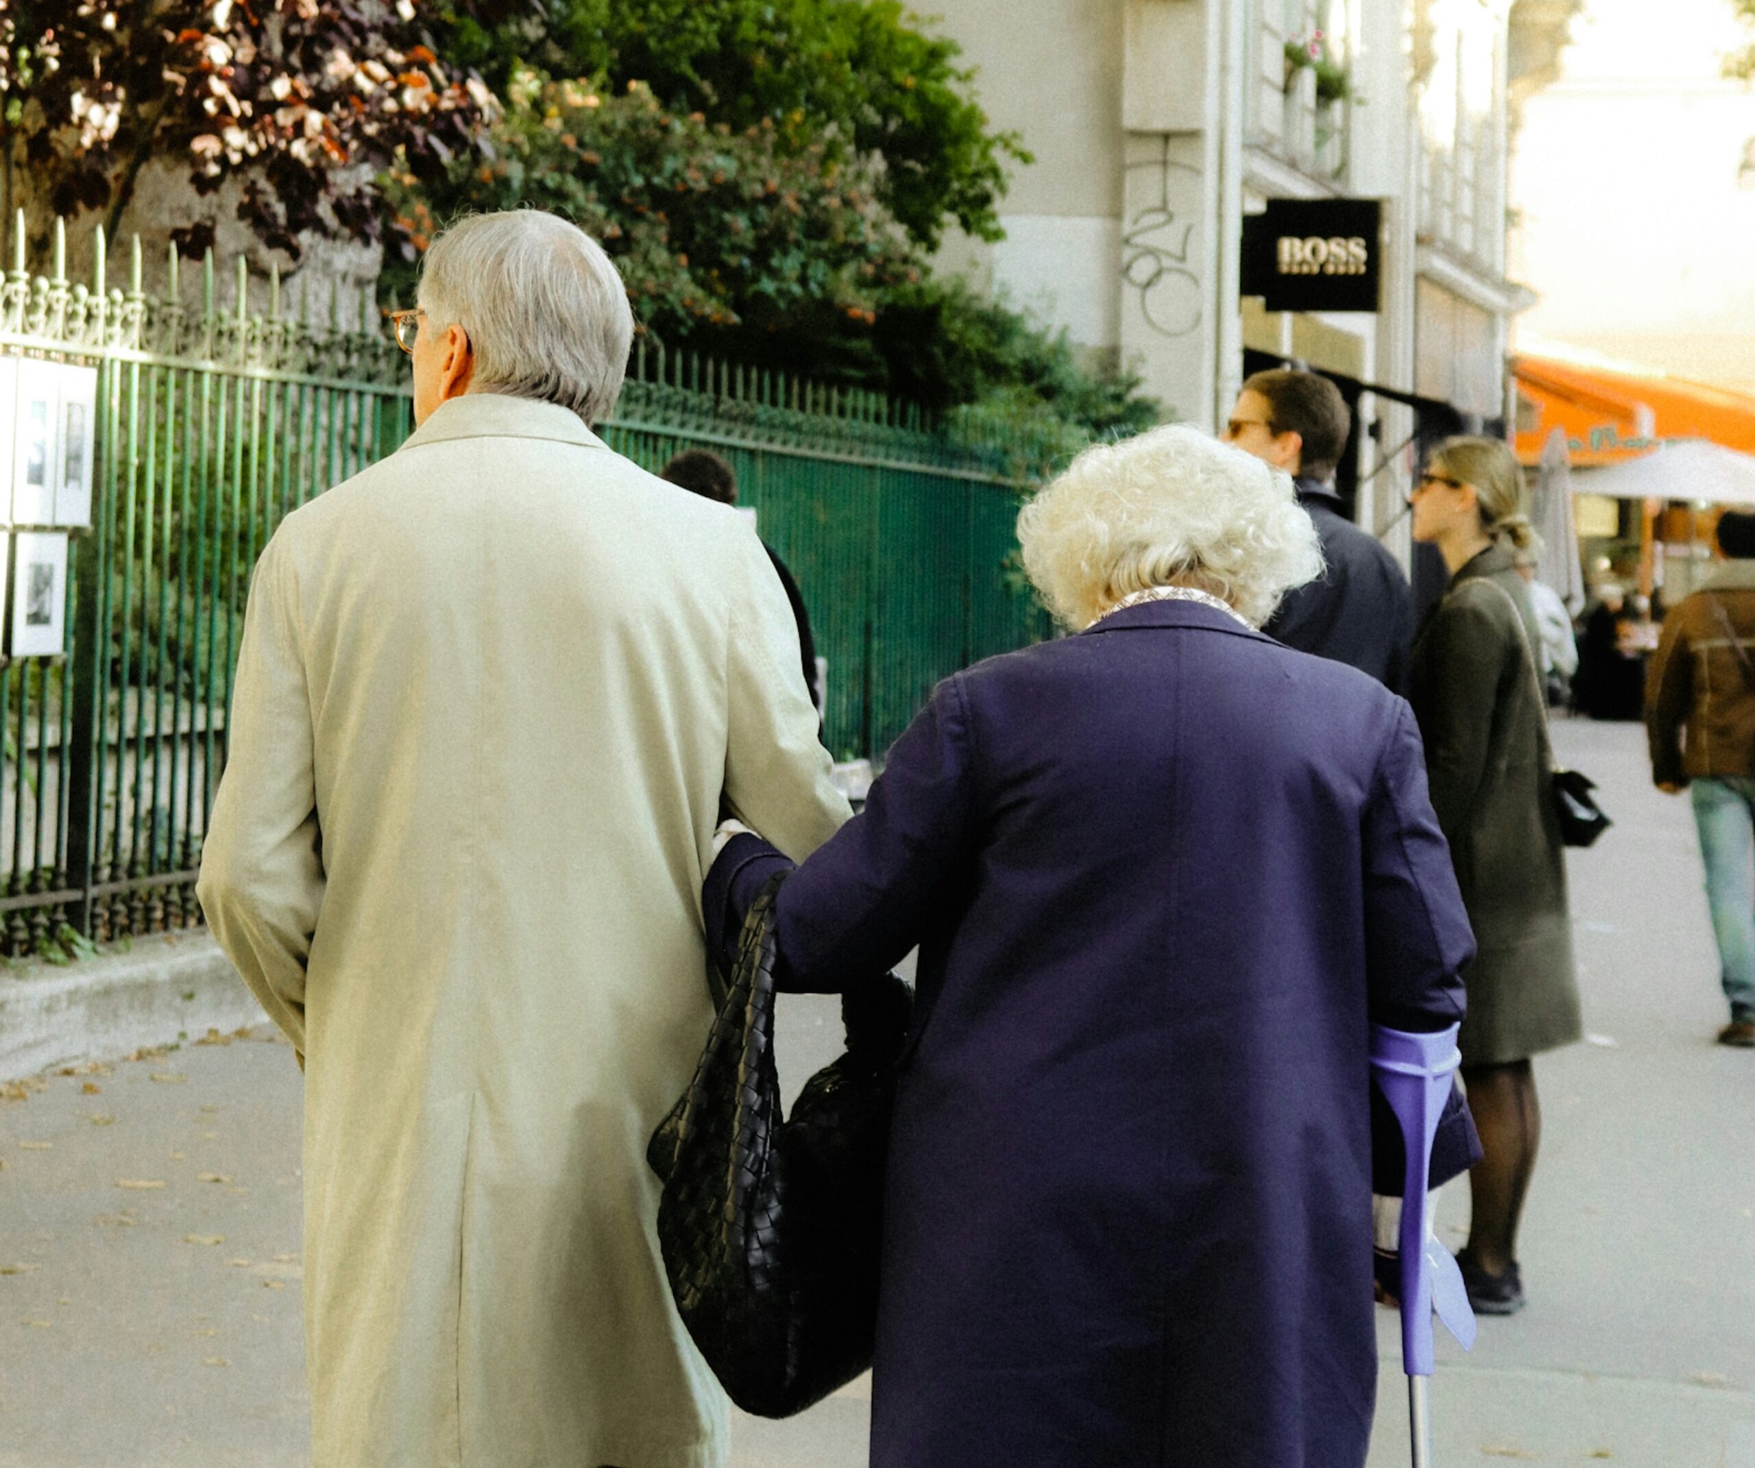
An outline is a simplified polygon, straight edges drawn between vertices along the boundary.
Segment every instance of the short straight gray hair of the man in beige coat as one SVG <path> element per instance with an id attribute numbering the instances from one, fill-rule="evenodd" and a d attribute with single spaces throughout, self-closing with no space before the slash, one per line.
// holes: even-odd
<path id="1" fill-rule="evenodd" d="M 426 251 L 418 302 L 430 328 L 469 333 L 474 389 L 560 403 L 586 424 L 614 412 L 634 310 L 577 224 L 541 209 L 460 219 Z"/>

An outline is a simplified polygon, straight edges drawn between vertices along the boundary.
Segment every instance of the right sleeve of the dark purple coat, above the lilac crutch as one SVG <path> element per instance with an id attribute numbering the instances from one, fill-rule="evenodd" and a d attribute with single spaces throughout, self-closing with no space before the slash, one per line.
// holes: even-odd
<path id="1" fill-rule="evenodd" d="M 1420 731 L 1406 703 L 1378 759 L 1365 816 L 1367 1012 L 1392 1030 L 1432 1031 L 1462 1019 L 1458 977 L 1474 958 L 1474 935 L 1450 863 L 1450 847 L 1427 800 Z M 1474 1121 L 1455 1087 L 1432 1142 L 1429 1186 L 1437 1187 L 1481 1156 Z M 1372 1191 L 1400 1194 L 1402 1135 L 1395 1114 L 1371 1089 Z"/>

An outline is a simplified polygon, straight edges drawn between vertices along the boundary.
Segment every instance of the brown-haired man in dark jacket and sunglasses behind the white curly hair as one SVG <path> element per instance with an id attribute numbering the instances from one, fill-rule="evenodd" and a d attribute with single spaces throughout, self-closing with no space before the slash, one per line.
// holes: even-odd
<path id="1" fill-rule="evenodd" d="M 1262 628 L 1300 652 L 1350 663 L 1393 693 L 1408 675 L 1413 607 L 1408 577 L 1376 537 L 1341 510 L 1334 470 L 1351 414 L 1339 388 L 1314 372 L 1257 372 L 1243 384 L 1223 438 L 1283 468 L 1322 538 L 1327 570 L 1286 595 Z"/>

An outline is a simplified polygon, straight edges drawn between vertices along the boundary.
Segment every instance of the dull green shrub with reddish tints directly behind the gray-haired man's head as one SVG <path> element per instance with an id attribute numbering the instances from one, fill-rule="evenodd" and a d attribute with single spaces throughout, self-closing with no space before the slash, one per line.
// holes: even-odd
<path id="1" fill-rule="evenodd" d="M 518 72 L 483 156 L 437 182 L 384 181 L 398 239 L 383 291 L 412 296 L 418 258 L 465 210 L 534 205 L 574 219 L 614 256 L 641 324 L 741 360 L 779 342 L 869 335 L 883 293 L 920 279 L 874 170 L 825 147 L 790 151 L 774 125 L 741 132 L 677 114 L 634 84 L 620 96 Z"/>

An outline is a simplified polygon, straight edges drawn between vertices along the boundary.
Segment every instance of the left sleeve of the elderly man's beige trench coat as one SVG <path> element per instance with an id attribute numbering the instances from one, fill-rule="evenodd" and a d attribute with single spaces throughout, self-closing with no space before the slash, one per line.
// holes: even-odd
<path id="1" fill-rule="evenodd" d="M 197 896 L 226 958 L 304 1063 L 305 963 L 323 910 L 311 700 L 284 531 L 261 552 L 239 645 L 226 763 Z"/>

